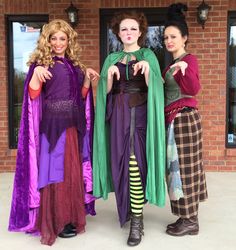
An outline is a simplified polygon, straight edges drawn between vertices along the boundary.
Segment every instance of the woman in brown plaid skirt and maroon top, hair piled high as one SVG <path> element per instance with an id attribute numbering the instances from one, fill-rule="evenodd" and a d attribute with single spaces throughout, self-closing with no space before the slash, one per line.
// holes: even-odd
<path id="1" fill-rule="evenodd" d="M 169 7 L 164 43 L 173 62 L 164 70 L 167 124 L 167 183 L 171 209 L 179 218 L 167 226 L 173 236 L 199 232 L 198 206 L 207 199 L 202 162 L 202 128 L 195 95 L 200 90 L 198 63 L 186 52 L 187 6 Z"/>

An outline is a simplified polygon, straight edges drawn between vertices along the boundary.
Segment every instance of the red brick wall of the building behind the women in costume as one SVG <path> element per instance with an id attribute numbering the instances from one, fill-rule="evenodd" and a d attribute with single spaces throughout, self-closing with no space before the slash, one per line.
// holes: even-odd
<path id="1" fill-rule="evenodd" d="M 167 7 L 172 0 L 74 0 L 79 9 L 82 61 L 99 70 L 99 8 Z M 196 22 L 201 0 L 182 1 L 189 7 L 188 51 L 197 55 L 202 90 L 198 95 L 204 129 L 204 165 L 209 171 L 236 171 L 236 149 L 225 148 L 227 11 L 236 10 L 230 0 L 206 0 L 212 9 L 203 30 Z M 4 14 L 49 14 L 64 18 L 68 0 L 0 1 L 0 172 L 14 171 L 16 150 L 8 149 L 7 60 Z"/>

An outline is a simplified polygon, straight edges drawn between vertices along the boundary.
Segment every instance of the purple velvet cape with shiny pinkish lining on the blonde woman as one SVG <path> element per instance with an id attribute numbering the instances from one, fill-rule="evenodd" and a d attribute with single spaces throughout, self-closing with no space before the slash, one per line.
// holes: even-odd
<path id="1" fill-rule="evenodd" d="M 31 100 L 28 86 L 33 75 L 35 65 L 31 65 L 24 83 L 24 96 L 18 136 L 18 150 L 16 157 L 16 172 L 14 178 L 9 231 L 35 231 L 35 223 L 40 204 L 38 191 L 38 156 L 39 156 L 39 123 L 41 118 L 41 95 Z M 93 134 L 93 95 L 90 88 L 85 103 L 86 133 L 83 143 L 83 175 L 85 181 L 85 203 L 94 202 L 92 192 L 92 134 Z M 91 178 L 90 178 L 91 176 Z M 89 212 L 89 211 L 87 211 Z M 95 214 L 92 209 L 91 214 Z"/>

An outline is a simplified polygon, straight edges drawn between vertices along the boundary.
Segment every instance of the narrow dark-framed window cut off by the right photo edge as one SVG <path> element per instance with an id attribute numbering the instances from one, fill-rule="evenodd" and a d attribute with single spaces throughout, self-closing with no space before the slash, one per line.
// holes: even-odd
<path id="1" fill-rule="evenodd" d="M 226 147 L 236 147 L 236 12 L 229 12 Z"/>

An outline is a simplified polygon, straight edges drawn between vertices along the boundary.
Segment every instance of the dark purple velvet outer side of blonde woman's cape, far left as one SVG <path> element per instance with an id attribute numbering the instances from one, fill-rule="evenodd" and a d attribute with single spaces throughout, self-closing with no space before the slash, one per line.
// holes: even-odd
<path id="1" fill-rule="evenodd" d="M 35 185 L 31 183 L 32 179 L 30 179 L 29 159 L 31 150 L 29 150 L 30 123 L 28 121 L 29 119 L 32 120 L 32 116 L 30 116 L 28 112 L 30 99 L 28 96 L 28 84 L 33 75 L 33 70 L 34 65 L 29 69 L 24 86 L 21 122 L 18 137 L 18 151 L 16 157 L 16 172 L 9 220 L 10 231 L 20 231 L 24 228 L 28 229 L 28 226 L 31 224 L 30 218 L 32 218 L 30 215 L 32 211 L 30 207 L 30 197 L 32 197 L 30 196 L 30 187 Z M 32 193 L 33 190 L 31 190 L 31 194 Z"/>

